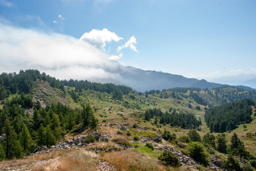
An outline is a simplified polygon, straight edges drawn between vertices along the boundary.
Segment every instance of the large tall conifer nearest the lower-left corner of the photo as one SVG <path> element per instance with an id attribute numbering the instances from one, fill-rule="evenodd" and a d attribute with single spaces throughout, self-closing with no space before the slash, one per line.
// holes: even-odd
<path id="1" fill-rule="evenodd" d="M 17 140 L 17 134 L 11 127 L 10 121 L 5 121 L 5 139 L 3 140 L 3 145 L 5 148 L 5 154 L 7 159 L 13 159 L 14 157 L 21 156 L 21 145 Z"/>

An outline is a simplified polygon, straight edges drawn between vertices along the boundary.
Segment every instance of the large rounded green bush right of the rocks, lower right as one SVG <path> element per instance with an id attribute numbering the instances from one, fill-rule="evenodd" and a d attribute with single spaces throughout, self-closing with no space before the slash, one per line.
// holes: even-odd
<path id="1" fill-rule="evenodd" d="M 187 153 L 189 156 L 207 166 L 209 164 L 209 155 L 205 150 L 205 146 L 198 142 L 190 142 L 188 145 Z"/>

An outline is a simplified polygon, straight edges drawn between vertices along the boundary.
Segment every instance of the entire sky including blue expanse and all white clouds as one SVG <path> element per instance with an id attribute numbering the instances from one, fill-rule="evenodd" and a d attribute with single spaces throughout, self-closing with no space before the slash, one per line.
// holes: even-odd
<path id="1" fill-rule="evenodd" d="M 255 76 L 255 7 L 254 0 L 0 0 L 0 72 L 105 78 L 115 76 L 106 67 L 116 60 L 188 78 Z"/>

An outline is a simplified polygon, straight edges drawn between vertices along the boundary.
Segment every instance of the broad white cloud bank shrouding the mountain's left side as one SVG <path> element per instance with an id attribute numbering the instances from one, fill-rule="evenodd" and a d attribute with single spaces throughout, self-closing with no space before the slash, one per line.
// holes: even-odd
<path id="1" fill-rule="evenodd" d="M 109 79 L 120 65 L 90 43 L 72 36 L 0 23 L 0 72 L 38 69 L 58 79 Z"/>

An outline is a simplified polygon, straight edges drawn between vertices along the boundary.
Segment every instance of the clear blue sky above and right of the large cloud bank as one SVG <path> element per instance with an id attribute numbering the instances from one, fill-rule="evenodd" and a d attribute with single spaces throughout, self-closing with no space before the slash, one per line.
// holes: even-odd
<path id="1" fill-rule="evenodd" d="M 119 63 L 207 79 L 256 74 L 255 7 L 250 0 L 0 0 L 0 23 L 77 39 L 107 28 L 120 39 L 101 51 L 122 54 Z M 118 52 L 132 36 L 136 51 Z"/>

